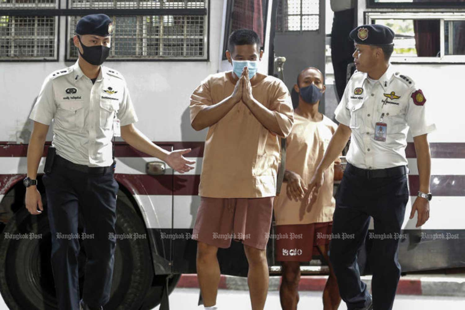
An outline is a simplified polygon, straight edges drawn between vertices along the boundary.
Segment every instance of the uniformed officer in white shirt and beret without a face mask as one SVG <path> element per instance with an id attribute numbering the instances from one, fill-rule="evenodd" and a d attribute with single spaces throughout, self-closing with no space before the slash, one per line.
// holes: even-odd
<path id="1" fill-rule="evenodd" d="M 389 63 L 394 32 L 382 25 L 363 25 L 352 30 L 350 37 L 358 71 L 335 111 L 340 124 L 308 185 L 307 198 L 310 204 L 315 201 L 323 171 L 350 137 L 348 163 L 336 198 L 330 260 L 348 310 L 392 310 L 400 277 L 398 236 L 409 199 L 407 132 L 410 128 L 420 180 L 410 218 L 417 211 L 419 227 L 429 218 L 431 156 L 426 136 L 436 127 L 426 119 L 423 92 Z M 375 237 L 371 249 L 373 297 L 360 281 L 357 264 L 370 216 Z"/>

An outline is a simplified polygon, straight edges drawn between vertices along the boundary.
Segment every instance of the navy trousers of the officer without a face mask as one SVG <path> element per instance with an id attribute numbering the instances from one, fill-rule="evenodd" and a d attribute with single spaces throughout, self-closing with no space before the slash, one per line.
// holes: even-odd
<path id="1" fill-rule="evenodd" d="M 373 309 L 392 309 L 400 277 L 396 233 L 400 234 L 408 198 L 407 175 L 370 178 L 355 174 L 354 167 L 347 165 L 336 196 L 330 261 L 348 310 L 363 308 L 369 303 L 366 284 L 360 280 L 357 252 L 367 236 L 370 216 L 374 223 L 369 259 L 373 272 Z"/>

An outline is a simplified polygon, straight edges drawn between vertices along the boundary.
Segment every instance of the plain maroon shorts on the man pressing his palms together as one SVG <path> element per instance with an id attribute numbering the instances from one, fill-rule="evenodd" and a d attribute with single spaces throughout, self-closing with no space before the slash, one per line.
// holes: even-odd
<path id="1" fill-rule="evenodd" d="M 193 239 L 225 249 L 231 246 L 231 239 L 266 249 L 273 199 L 201 197 Z"/>

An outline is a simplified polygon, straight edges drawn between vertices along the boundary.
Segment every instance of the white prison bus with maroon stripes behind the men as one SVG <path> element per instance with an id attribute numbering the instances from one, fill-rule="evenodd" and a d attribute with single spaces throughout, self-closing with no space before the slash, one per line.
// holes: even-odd
<path id="1" fill-rule="evenodd" d="M 188 106 L 192 91 L 207 75 L 231 69 L 224 54 L 231 31 L 252 28 L 259 33 L 264 49 L 260 72 L 286 76 L 289 89 L 302 68 L 313 65 L 322 69 L 327 91 L 321 110 L 333 117 L 338 100 L 328 56 L 331 38 L 327 34 L 332 21 L 328 2 L 0 1 L 0 292 L 8 308 L 56 309 L 41 174 L 38 189 L 45 210 L 38 216 L 29 215 L 24 206 L 21 181 L 26 176 L 27 143 L 32 129 L 28 116 L 46 76 L 76 61 L 72 37 L 80 16 L 106 13 L 113 19 L 113 42 L 104 65 L 125 77 L 139 116 L 137 127 L 167 150 L 192 148 L 188 156 L 196 161 L 195 169 L 180 175 L 121 140 L 115 143 L 115 178 L 120 186 L 116 231 L 126 237 L 117 238 L 111 298 L 106 308 L 149 310 L 161 303 L 163 310 L 168 309 L 167 297 L 180 275 L 196 273 L 197 244 L 190 237 L 200 201 L 198 186 L 206 130 L 196 132 L 191 128 Z M 393 2 L 359 0 L 356 24 L 383 23 L 396 30 L 392 62 L 424 90 L 438 128 L 429 135 L 434 195 L 431 218 L 418 229 L 416 217 L 408 219 L 418 191 L 415 149 L 409 136 L 406 155 L 411 169 L 411 199 L 405 213 L 399 261 L 404 273 L 452 272 L 464 267 L 461 258 L 465 255 L 465 135 L 458 127 L 464 111 L 461 73 L 465 69 L 465 9 L 463 3 L 452 0 L 441 2 L 440 7 L 434 1 Z M 275 56 L 286 57 L 285 75 L 284 58 L 278 58 L 278 71 Z M 105 105 L 101 108 L 105 109 Z M 44 156 L 52 140 L 51 132 Z M 45 157 L 40 173 L 44 161 Z M 370 246 L 367 240 L 364 250 L 368 254 Z M 242 244 L 233 242 L 230 249 L 219 249 L 218 257 L 223 274 L 247 275 Z M 279 275 L 272 238 L 267 257 L 270 273 Z M 85 259 L 81 247 L 80 266 Z M 366 266 L 365 273 L 370 272 L 369 261 L 361 265 Z M 304 274 L 327 272 L 318 260 L 301 269 Z M 79 274 L 82 285 L 82 268 Z"/>

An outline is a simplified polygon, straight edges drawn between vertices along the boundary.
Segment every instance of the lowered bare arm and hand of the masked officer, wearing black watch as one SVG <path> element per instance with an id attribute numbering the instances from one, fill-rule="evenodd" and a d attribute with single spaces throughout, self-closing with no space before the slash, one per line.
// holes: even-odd
<path id="1" fill-rule="evenodd" d="M 40 159 L 44 153 L 44 144 L 48 132 L 48 125 L 34 121 L 34 127 L 27 147 L 27 176 L 33 180 L 37 179 L 37 169 L 39 168 Z M 26 189 L 26 208 L 33 215 L 40 214 L 37 210 L 43 210 L 42 199 L 37 190 L 37 186 L 31 185 Z"/>

